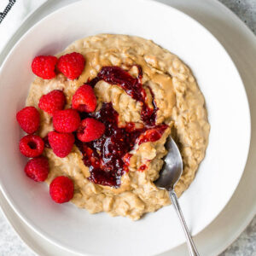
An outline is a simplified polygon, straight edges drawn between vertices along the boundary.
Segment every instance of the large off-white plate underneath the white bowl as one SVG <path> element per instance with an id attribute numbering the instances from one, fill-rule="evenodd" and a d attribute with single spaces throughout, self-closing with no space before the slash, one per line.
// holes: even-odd
<path id="1" fill-rule="evenodd" d="M 44 3 L 43 6 L 41 6 L 32 15 L 30 15 L 26 19 L 26 21 L 20 26 L 19 30 L 9 41 L 9 44 L 7 44 L 6 47 L 3 49 L 3 52 L 0 55 L 0 61 L 4 61 L 6 55 L 8 55 L 9 53 L 9 50 L 20 39 L 20 37 L 38 20 L 42 20 L 44 16 L 49 15 L 54 10 L 73 2 L 76 1 L 55 0 Z M 113 3 L 113 1 L 110 2 Z M 216 255 L 224 250 L 224 248 L 227 247 L 230 242 L 234 241 L 237 236 L 239 236 L 241 231 L 245 229 L 247 224 L 255 215 L 256 204 L 254 199 L 256 188 L 254 184 L 256 182 L 256 178 L 255 175 L 253 175 L 253 167 L 256 166 L 256 160 L 254 160 L 255 158 L 253 159 L 253 152 L 255 152 L 256 149 L 256 89 L 253 83 L 256 80 L 256 73 L 254 72 L 254 67 L 256 64 L 256 40 L 253 33 L 249 31 L 247 26 L 245 26 L 241 22 L 241 20 L 236 17 L 236 15 L 233 15 L 229 9 L 226 9 L 222 4 L 218 3 L 217 1 L 162 0 L 161 2 L 166 3 L 167 5 L 171 5 L 172 7 L 183 11 L 187 15 L 190 15 L 195 20 L 198 20 L 203 26 L 205 26 L 210 32 L 212 32 L 212 34 L 216 38 L 218 38 L 218 41 L 224 45 L 224 48 L 228 51 L 232 60 L 236 64 L 236 67 L 241 75 L 241 79 L 247 91 L 248 102 L 250 104 L 252 116 L 252 138 L 250 152 L 248 154 L 247 166 L 245 168 L 245 171 L 243 172 L 241 181 L 237 188 L 236 182 L 233 184 L 234 186 L 232 187 L 232 189 L 236 189 L 236 191 L 232 195 L 231 199 L 229 195 L 224 195 L 224 197 L 226 198 L 226 201 L 224 203 L 226 203 L 229 199 L 230 201 L 224 207 L 222 212 L 218 214 L 217 211 L 216 214 L 218 214 L 218 217 L 215 218 L 216 216 L 213 216 L 213 214 L 211 216 L 211 224 L 209 225 L 207 225 L 206 218 L 206 223 L 201 225 L 201 230 L 200 228 L 198 229 L 198 231 L 200 232 L 195 236 L 195 242 L 198 245 L 202 255 Z M 150 6 L 152 8 L 151 2 L 140 1 L 137 4 L 143 4 L 145 9 L 149 9 Z M 160 9 L 163 8 L 163 6 L 154 6 L 155 15 L 160 15 L 158 14 L 158 12 L 160 11 Z M 166 7 L 166 9 L 167 8 L 168 7 Z M 91 26 L 93 26 L 93 24 L 91 24 Z M 168 29 L 168 27 L 165 26 L 165 29 Z M 168 48 L 166 45 L 164 46 Z M 174 53 L 177 52 L 174 51 Z M 180 54 L 177 53 L 177 55 Z M 236 68 L 234 70 L 236 70 Z M 197 77 L 196 73 L 195 77 Z M 229 79 L 227 79 L 227 81 L 229 81 Z M 229 88 L 230 95 L 227 95 L 227 97 L 232 96 L 232 84 L 229 84 Z M 241 90 L 241 98 L 246 100 L 246 97 L 243 94 L 244 90 Z M 237 102 L 237 104 L 239 103 L 241 102 Z M 246 104 L 244 106 L 246 106 Z M 244 117 L 237 116 L 237 122 L 239 122 L 241 118 Z M 244 126 L 248 127 L 248 125 L 249 120 L 247 119 L 247 124 L 244 124 Z M 238 137 L 242 140 L 244 137 L 248 137 L 248 135 L 244 135 L 243 137 L 243 134 L 238 134 Z M 234 140 L 236 140 L 236 137 L 234 137 Z M 247 147 L 245 147 L 245 152 L 243 152 L 243 154 L 247 154 L 246 148 Z M 245 157 L 241 156 L 241 158 Z M 237 177 L 238 182 L 239 175 Z M 216 184 L 216 189 L 218 189 L 218 183 Z M 232 189 L 230 189 L 230 191 Z M 233 192 L 233 190 L 231 192 Z M 6 195 L 6 193 L 4 194 Z M 18 212 L 17 209 L 15 209 L 14 211 L 13 208 L 9 206 L 8 201 L 6 201 L 2 193 L 0 193 L 0 204 L 3 208 L 3 212 L 9 219 L 9 222 L 14 226 L 21 239 L 23 239 L 23 241 L 25 241 L 26 244 L 39 255 L 78 255 L 78 252 L 75 252 L 72 247 L 69 247 L 69 249 L 65 246 L 63 247 L 61 246 L 61 243 L 57 243 L 54 240 L 49 239 L 49 237 L 47 236 L 43 237 L 42 234 L 40 235 L 40 232 L 32 227 L 32 224 L 29 224 L 28 222 L 26 222 L 25 224 L 15 213 L 15 211 Z M 222 209 L 221 206 L 218 207 L 220 208 L 220 210 Z M 236 212 L 236 214 L 234 214 L 234 212 Z M 18 213 L 22 218 L 22 214 L 20 214 L 20 212 Z M 213 220 L 213 218 L 215 219 Z M 23 220 L 24 219 L 26 218 L 23 218 Z M 29 224 L 29 226 L 27 224 Z M 160 243 L 160 241 L 157 241 L 157 243 Z M 166 247 L 163 247 L 162 250 L 158 250 L 158 253 L 161 253 L 161 255 L 185 255 L 186 247 L 184 244 L 177 247 L 179 243 L 180 242 L 172 242 L 170 243 L 172 244 L 172 246 L 170 245 L 166 253 L 163 253 L 166 250 Z M 158 244 L 157 247 L 160 248 L 160 245 Z M 84 250 L 83 252 L 85 253 L 86 250 Z M 147 250 L 145 250 L 145 254 L 148 255 L 150 253 L 147 253 Z M 108 255 L 108 252 L 106 252 L 106 255 Z M 136 253 L 134 255 L 136 255 Z"/>

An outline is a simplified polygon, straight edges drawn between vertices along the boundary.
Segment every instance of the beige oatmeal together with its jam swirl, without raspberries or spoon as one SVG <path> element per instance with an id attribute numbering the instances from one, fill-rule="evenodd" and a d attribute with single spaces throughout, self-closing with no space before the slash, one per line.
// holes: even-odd
<path id="1" fill-rule="evenodd" d="M 80 39 L 57 56 L 73 51 L 86 61 L 79 79 L 69 80 L 61 73 L 55 79 L 37 78 L 26 105 L 38 108 L 41 96 L 63 90 L 70 108 L 75 91 L 90 84 L 97 107 L 89 116 L 107 130 L 91 143 L 76 140 L 64 158 L 45 148 L 47 183 L 61 175 L 72 178 L 72 202 L 90 213 L 138 219 L 170 204 L 166 190 L 154 185 L 166 155 L 166 137 L 174 138 L 183 156 L 183 175 L 175 188 L 179 196 L 205 156 L 210 130 L 204 97 L 189 67 L 152 41 L 124 35 Z M 38 135 L 45 137 L 53 131 L 52 118 L 38 110 Z"/>

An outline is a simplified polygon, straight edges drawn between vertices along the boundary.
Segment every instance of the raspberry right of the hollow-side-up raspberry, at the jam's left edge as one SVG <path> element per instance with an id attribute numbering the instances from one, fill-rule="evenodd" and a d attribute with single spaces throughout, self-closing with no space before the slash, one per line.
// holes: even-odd
<path id="1" fill-rule="evenodd" d="M 74 136 L 73 133 L 50 131 L 48 133 L 48 140 L 55 155 L 66 157 L 73 148 Z"/>

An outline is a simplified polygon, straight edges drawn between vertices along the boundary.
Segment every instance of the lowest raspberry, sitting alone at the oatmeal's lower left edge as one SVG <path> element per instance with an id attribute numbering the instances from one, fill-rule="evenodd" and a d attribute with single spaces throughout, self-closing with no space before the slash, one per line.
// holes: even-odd
<path id="1" fill-rule="evenodd" d="M 73 181 L 69 177 L 59 176 L 49 185 L 49 195 L 58 204 L 73 198 Z"/>

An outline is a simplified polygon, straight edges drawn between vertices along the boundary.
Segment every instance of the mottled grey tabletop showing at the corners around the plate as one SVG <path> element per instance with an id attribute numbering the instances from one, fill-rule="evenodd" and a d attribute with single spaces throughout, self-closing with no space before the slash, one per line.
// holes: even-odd
<path id="1" fill-rule="evenodd" d="M 256 0 L 219 0 L 256 33 Z M 32 256 L 0 211 L 0 256 Z M 256 256 L 256 218 L 241 236 L 220 256 Z"/>

